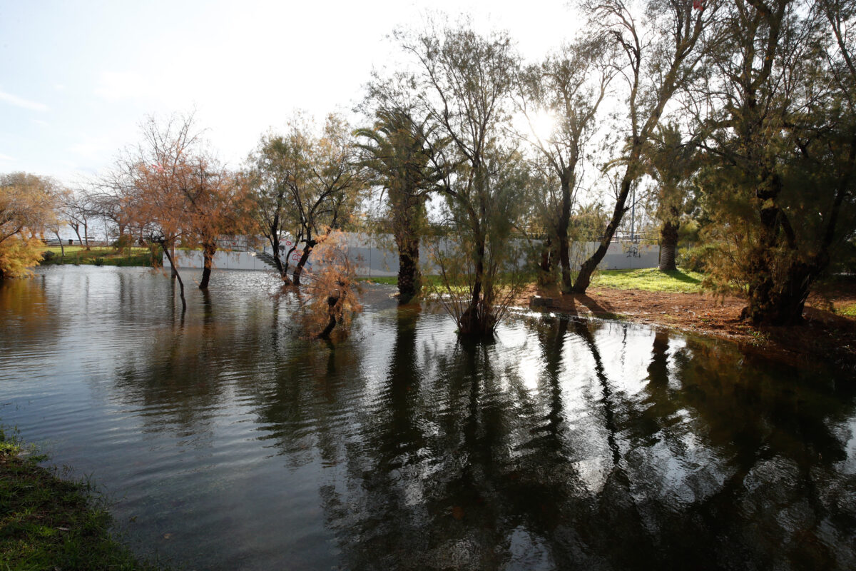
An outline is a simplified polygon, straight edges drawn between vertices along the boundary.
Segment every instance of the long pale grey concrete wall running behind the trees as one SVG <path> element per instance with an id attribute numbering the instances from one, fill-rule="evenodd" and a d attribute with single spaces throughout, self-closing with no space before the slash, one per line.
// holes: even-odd
<path id="1" fill-rule="evenodd" d="M 395 241 L 391 235 L 374 236 L 365 233 L 348 234 L 348 259 L 357 267 L 360 276 L 396 276 L 398 275 L 398 253 L 395 252 Z M 288 246 L 290 248 L 290 245 Z M 576 242 L 571 245 L 571 262 L 579 267 L 597 249 L 597 242 Z M 286 248 L 288 250 L 288 248 Z M 270 246 L 265 252 L 272 253 Z M 202 253 L 200 251 L 179 250 L 175 252 L 176 264 L 180 268 L 201 268 Z M 656 268 L 659 263 L 660 247 L 656 245 L 632 244 L 629 242 L 613 242 L 603 257 L 601 270 L 638 270 L 640 268 Z M 292 255 L 289 264 L 294 266 L 300 259 L 298 253 Z M 312 269 L 312 257 L 309 269 Z M 428 259 L 425 249 L 422 252 L 423 273 L 437 273 L 436 268 Z M 163 263 L 169 265 L 164 259 Z M 220 270 L 270 270 L 269 265 L 256 258 L 253 252 L 217 252 L 214 256 L 214 267 Z"/>

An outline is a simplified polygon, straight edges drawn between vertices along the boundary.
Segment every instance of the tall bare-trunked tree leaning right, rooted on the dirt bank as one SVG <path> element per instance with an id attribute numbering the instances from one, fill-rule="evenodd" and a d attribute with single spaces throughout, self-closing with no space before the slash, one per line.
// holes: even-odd
<path id="1" fill-rule="evenodd" d="M 694 8 L 694 5 L 696 8 Z M 626 81 L 627 143 L 624 155 L 613 162 L 621 167 L 615 208 L 600 244 L 581 265 L 572 290 L 586 292 L 591 275 L 606 255 L 609 242 L 627 211 L 633 184 L 644 174 L 642 152 L 657 128 L 669 99 L 686 86 L 701 58 L 698 44 L 714 21 L 718 4 L 698 0 L 645 3 L 647 32 L 639 25 L 639 14 L 621 0 L 586 3 L 591 21 L 604 42 L 615 45 L 619 59 L 615 70 Z M 650 36 L 647 34 L 651 34 Z"/>

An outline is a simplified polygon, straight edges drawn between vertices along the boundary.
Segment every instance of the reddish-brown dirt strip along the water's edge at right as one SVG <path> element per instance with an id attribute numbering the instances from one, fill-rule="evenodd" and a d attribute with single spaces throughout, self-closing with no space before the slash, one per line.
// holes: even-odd
<path id="1" fill-rule="evenodd" d="M 520 295 L 519 305 L 529 305 L 533 295 L 550 298 L 544 306 L 550 311 L 623 318 L 717 336 L 787 360 L 829 360 L 856 370 L 856 318 L 830 311 L 833 306 L 856 303 L 856 283 L 838 284 L 812 294 L 805 306 L 805 324 L 794 327 L 755 328 L 746 324 L 740 320 L 746 301 L 737 297 L 612 288 L 589 288 L 583 295 L 562 295 L 557 288 L 533 285 Z"/>

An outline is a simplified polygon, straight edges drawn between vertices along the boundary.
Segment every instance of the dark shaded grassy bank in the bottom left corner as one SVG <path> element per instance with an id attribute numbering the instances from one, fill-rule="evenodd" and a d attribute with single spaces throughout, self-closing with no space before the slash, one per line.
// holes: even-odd
<path id="1" fill-rule="evenodd" d="M 89 485 L 57 478 L 43 459 L 0 429 L 0 569 L 157 569 L 110 537 Z"/>

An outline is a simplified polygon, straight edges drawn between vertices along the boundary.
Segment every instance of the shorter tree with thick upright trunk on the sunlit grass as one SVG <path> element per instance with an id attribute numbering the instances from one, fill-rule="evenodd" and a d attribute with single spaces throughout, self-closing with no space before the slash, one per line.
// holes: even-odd
<path id="1" fill-rule="evenodd" d="M 698 169 L 696 144 L 681 139 L 681 130 L 673 123 L 661 124 L 645 146 L 643 160 L 648 174 L 657 183 L 655 199 L 660 221 L 660 270 L 674 271 L 678 230 L 685 209 L 692 175 Z"/>

